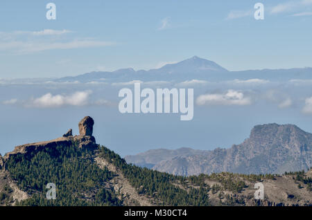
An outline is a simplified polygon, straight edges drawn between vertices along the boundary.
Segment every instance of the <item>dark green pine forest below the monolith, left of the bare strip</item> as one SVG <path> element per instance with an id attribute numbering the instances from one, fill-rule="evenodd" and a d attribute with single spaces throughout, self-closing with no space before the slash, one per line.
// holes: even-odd
<path id="1" fill-rule="evenodd" d="M 121 205 L 116 195 L 104 188 L 113 174 L 93 163 L 91 154 L 73 143 L 71 147 L 11 156 L 8 171 L 22 190 L 33 195 L 18 205 Z M 46 199 L 47 183 L 56 185 L 55 200 Z"/>

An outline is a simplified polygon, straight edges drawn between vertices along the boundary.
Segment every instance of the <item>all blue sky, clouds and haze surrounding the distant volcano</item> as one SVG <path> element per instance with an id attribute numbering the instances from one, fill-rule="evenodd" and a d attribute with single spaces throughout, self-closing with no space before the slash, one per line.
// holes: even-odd
<path id="1" fill-rule="evenodd" d="M 55 3 L 56 19 L 46 19 Z M 254 19 L 263 3 L 264 19 Z M 0 153 L 51 140 L 92 116 L 97 143 L 118 154 L 148 149 L 231 147 L 254 125 L 277 122 L 312 131 L 311 77 L 274 75 L 224 81 L 142 82 L 193 88 L 193 120 L 180 114 L 122 114 L 130 82 L 51 79 L 120 68 L 150 69 L 193 56 L 229 71 L 312 67 L 312 0 L 0 1 Z M 10 80 L 16 78 L 32 78 Z"/>

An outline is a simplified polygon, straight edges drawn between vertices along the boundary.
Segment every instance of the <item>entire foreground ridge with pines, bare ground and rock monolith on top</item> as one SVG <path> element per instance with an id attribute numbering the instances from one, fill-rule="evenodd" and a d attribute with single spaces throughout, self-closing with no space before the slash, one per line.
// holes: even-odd
<path id="1" fill-rule="evenodd" d="M 130 165 L 96 144 L 93 124 L 85 117 L 78 136 L 71 129 L 63 135 L 69 142 L 57 138 L 21 145 L 14 154 L 0 156 L 0 205 L 312 205 L 312 170 L 282 176 L 175 176 Z M 263 199 L 254 198 L 259 182 L 265 187 Z M 46 198 L 47 183 L 55 185 L 55 200 Z"/>

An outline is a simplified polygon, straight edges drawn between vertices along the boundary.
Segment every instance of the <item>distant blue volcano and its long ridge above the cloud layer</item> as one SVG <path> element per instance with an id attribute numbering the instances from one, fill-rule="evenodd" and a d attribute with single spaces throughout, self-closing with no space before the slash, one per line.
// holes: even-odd
<path id="1" fill-rule="evenodd" d="M 227 71 L 215 62 L 194 56 L 176 64 L 166 64 L 161 68 L 148 71 L 135 71 L 133 68 L 123 68 L 113 72 L 91 72 L 72 77 L 62 77 L 56 82 L 125 82 L 129 80 L 142 81 L 182 81 L 182 80 L 247 80 L 250 78 L 270 80 L 291 80 L 311 78 L 312 68 L 263 69 L 250 71 Z"/>

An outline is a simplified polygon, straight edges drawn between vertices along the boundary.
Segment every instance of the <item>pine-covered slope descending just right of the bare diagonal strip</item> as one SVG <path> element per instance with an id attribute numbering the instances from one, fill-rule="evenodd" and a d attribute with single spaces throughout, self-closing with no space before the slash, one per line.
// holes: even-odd
<path id="1" fill-rule="evenodd" d="M 141 193 L 154 199 L 159 205 L 209 205 L 205 187 L 182 190 L 173 185 L 177 181 L 188 181 L 185 177 L 128 165 L 123 158 L 106 147 L 101 147 L 100 156 L 119 167 L 133 187 L 141 189 Z"/>

